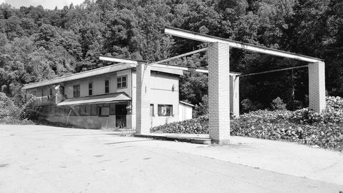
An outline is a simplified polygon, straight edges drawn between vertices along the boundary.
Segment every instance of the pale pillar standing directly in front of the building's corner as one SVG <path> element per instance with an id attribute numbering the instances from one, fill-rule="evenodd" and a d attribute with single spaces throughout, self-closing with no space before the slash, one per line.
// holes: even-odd
<path id="1" fill-rule="evenodd" d="M 136 133 L 150 133 L 150 66 L 137 65 Z"/>

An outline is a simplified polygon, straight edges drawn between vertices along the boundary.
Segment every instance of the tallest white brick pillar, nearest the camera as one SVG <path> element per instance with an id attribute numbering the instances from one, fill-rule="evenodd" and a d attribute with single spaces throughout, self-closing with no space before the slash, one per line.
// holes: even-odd
<path id="1" fill-rule="evenodd" d="M 230 143 L 229 46 L 211 43 L 209 55 L 209 135 L 215 144 Z"/>

